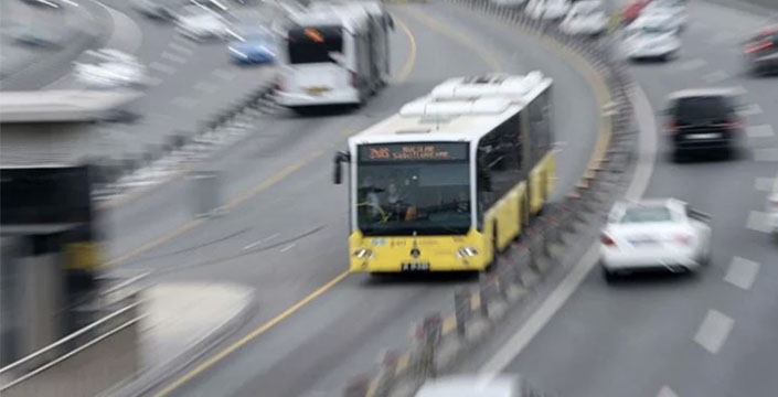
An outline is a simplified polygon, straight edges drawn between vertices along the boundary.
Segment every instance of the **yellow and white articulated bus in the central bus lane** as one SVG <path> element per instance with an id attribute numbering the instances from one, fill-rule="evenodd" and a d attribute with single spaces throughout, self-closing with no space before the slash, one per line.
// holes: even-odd
<path id="1" fill-rule="evenodd" d="M 352 272 L 482 271 L 554 189 L 552 79 L 456 77 L 352 136 Z"/>

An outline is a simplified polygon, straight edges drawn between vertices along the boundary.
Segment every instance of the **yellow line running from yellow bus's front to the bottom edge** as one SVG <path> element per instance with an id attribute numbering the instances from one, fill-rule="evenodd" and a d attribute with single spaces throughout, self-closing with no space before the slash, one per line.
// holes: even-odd
<path id="1" fill-rule="evenodd" d="M 214 356 L 207 358 L 206 361 L 204 361 L 203 363 L 201 363 L 200 365 L 198 365 L 196 367 L 194 367 L 192 371 L 188 372 L 186 374 L 184 374 L 184 375 L 181 376 L 180 378 L 175 379 L 173 383 L 171 383 L 171 384 L 169 384 L 168 386 L 166 386 L 164 388 L 162 388 L 160 391 L 156 393 L 156 394 L 154 394 L 154 397 L 162 397 L 162 396 L 169 395 L 169 394 L 170 394 L 171 391 L 173 391 L 174 389 L 181 387 L 181 385 L 185 384 L 186 382 L 189 382 L 189 380 L 192 379 L 193 377 L 200 375 L 200 374 L 203 373 L 204 371 L 206 371 L 206 369 L 209 369 L 210 367 L 212 367 L 214 364 L 216 364 L 216 363 L 219 363 L 220 361 L 224 360 L 224 357 L 228 356 L 230 354 L 232 354 L 232 353 L 235 352 L 236 350 L 241 348 L 242 346 L 244 346 L 244 345 L 247 344 L 248 342 L 252 342 L 252 341 L 255 340 L 257 336 L 264 334 L 264 333 L 267 332 L 268 330 L 270 330 L 270 329 L 273 329 L 274 326 L 278 325 L 281 321 L 284 321 L 284 320 L 286 320 L 287 318 L 289 318 L 290 315 L 295 314 L 298 310 L 300 310 L 300 308 L 305 307 L 306 304 L 310 303 L 310 302 L 313 301 L 315 299 L 319 298 L 322 293 L 324 293 L 324 292 L 329 291 L 330 289 L 332 289 L 332 287 L 334 287 L 335 285 L 338 285 L 339 282 L 341 282 L 343 279 L 345 279 L 347 276 L 349 276 L 349 272 L 348 272 L 348 271 L 343 271 L 342 273 L 338 275 L 338 277 L 333 278 L 332 280 L 330 280 L 329 282 L 327 282 L 326 285 L 321 286 L 319 289 L 317 289 L 316 291 L 313 291 L 313 292 L 310 293 L 309 296 L 305 297 L 303 299 L 301 299 L 300 301 L 298 301 L 297 303 L 295 303 L 294 305 L 291 305 L 289 309 L 283 311 L 281 313 L 279 313 L 278 315 L 276 315 L 275 318 L 273 318 L 273 320 L 270 320 L 270 321 L 266 322 L 265 324 L 260 325 L 259 328 L 257 328 L 256 330 L 252 331 L 252 332 L 251 332 L 249 334 L 247 334 L 246 336 L 242 337 L 242 339 L 238 340 L 237 342 L 235 342 L 235 343 L 233 343 L 232 345 L 227 346 L 225 350 L 223 350 L 223 351 L 216 353 Z"/>

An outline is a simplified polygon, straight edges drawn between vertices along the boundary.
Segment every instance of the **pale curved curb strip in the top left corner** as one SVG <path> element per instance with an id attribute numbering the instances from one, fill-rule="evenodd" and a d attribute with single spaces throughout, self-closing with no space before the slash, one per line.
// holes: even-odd
<path id="1" fill-rule="evenodd" d="M 82 19 L 98 28 L 93 32 L 78 31 L 68 40 L 70 44 L 53 54 L 43 56 L 41 60 L 32 62 L 30 65 L 8 73 L 0 81 L 0 89 L 19 90 L 22 86 L 34 83 L 41 88 L 61 77 L 62 69 L 70 68 L 71 62 L 76 60 L 87 49 L 97 46 L 103 37 L 114 29 L 110 15 L 99 7 L 79 7 L 78 12 Z M 49 78 L 46 78 L 49 76 Z"/>

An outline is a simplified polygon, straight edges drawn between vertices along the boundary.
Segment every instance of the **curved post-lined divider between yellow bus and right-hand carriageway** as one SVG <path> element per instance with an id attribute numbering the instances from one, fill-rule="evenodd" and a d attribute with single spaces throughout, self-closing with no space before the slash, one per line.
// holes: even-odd
<path id="1" fill-rule="evenodd" d="M 433 313 L 415 324 L 409 347 L 384 351 L 375 374 L 362 374 L 348 384 L 348 397 L 412 396 L 426 378 L 450 368 L 503 319 L 512 307 L 525 301 L 535 287 L 554 270 L 573 267 L 571 251 L 595 238 L 600 213 L 625 189 L 636 144 L 632 126 L 631 82 L 610 55 L 609 43 L 585 41 L 561 33 L 555 25 L 531 20 L 519 11 L 489 0 L 448 0 L 508 23 L 519 33 L 534 35 L 559 57 L 583 65 L 580 72 L 592 85 L 604 111 L 597 146 L 575 191 L 562 203 L 547 204 L 534 218 L 521 242 L 500 258 L 500 265 L 480 275 L 477 287 L 454 294 L 454 313 Z M 607 93 L 603 92 L 603 88 Z M 559 269 L 561 267 L 565 269 Z"/>

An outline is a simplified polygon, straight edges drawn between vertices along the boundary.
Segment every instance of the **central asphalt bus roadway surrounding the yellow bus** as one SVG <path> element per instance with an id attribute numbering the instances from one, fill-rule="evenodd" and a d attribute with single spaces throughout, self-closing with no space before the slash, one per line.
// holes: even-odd
<path id="1" fill-rule="evenodd" d="M 203 164 L 223 172 L 226 197 L 238 197 L 226 215 L 188 223 L 185 180 L 110 213 L 116 271 L 150 270 L 158 281 L 232 281 L 256 288 L 258 312 L 235 340 L 249 332 L 257 337 L 206 371 L 188 375 L 173 395 L 337 395 L 350 376 L 375 362 L 380 350 L 404 346 L 413 321 L 448 308 L 456 286 L 472 282 L 450 277 L 374 282 L 363 275 L 342 276 L 347 200 L 345 189 L 330 182 L 331 153 L 347 136 L 445 78 L 533 68 L 554 77 L 556 140 L 563 143 L 556 194 L 583 172 L 599 111 L 577 69 L 536 42 L 507 35 L 463 10 L 434 4 L 393 10 L 404 22 L 392 42 L 393 68 L 402 75 L 405 65 L 413 66 L 401 76 L 407 78 L 353 114 L 278 115 L 258 122 L 249 138 Z M 412 34 L 403 34 L 405 25 Z M 407 63 L 409 56 L 415 62 Z M 307 303 L 290 310 L 306 297 Z M 281 320 L 268 326 L 271 319 Z"/>

